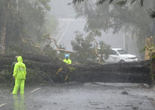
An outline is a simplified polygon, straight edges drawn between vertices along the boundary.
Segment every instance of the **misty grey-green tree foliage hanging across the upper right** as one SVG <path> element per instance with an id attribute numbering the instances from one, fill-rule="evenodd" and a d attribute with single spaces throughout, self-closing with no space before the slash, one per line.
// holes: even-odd
<path id="1" fill-rule="evenodd" d="M 109 0 L 101 1 L 98 4 L 98 2 L 84 0 L 80 4 L 75 4 L 78 16 L 87 18 L 88 30 L 112 29 L 114 33 L 120 31 L 129 33 L 136 38 L 139 50 L 144 47 L 146 37 L 155 35 L 154 21 L 148 16 L 148 14 L 153 16 L 154 11 L 146 7 L 149 3 L 155 6 L 154 0 L 145 2 L 145 7 L 141 0 L 113 0 L 110 5 Z"/>

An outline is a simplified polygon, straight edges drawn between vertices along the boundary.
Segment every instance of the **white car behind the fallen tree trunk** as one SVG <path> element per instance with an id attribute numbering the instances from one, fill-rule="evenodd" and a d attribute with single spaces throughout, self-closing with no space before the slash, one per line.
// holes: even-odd
<path id="1" fill-rule="evenodd" d="M 128 54 L 121 48 L 112 48 L 111 54 L 105 61 L 106 63 L 136 62 L 138 58 L 135 55 Z"/>

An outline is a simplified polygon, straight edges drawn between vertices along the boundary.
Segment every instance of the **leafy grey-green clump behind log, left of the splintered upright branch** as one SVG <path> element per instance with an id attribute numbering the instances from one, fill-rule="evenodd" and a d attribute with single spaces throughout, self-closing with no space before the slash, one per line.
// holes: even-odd
<path id="1" fill-rule="evenodd" d="M 75 60 L 80 63 L 86 63 L 96 59 L 93 37 L 89 34 L 84 38 L 81 33 L 76 33 L 75 41 L 71 42 L 75 51 Z"/>

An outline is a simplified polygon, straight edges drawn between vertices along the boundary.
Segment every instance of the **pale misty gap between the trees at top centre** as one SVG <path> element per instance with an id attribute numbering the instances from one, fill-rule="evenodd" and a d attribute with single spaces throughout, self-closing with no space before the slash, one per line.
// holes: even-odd
<path id="1" fill-rule="evenodd" d="M 58 43 L 63 44 L 68 50 L 72 50 L 71 40 L 75 37 L 75 31 L 83 31 L 85 20 L 76 17 L 72 0 L 52 0 L 51 13 L 58 19 L 59 28 L 56 36 Z"/>

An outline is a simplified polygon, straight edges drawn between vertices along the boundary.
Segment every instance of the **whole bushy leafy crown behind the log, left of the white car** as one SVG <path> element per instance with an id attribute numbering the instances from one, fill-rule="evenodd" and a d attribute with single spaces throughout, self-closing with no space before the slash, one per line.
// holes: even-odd
<path id="1" fill-rule="evenodd" d="M 74 53 L 72 58 L 74 62 L 78 63 L 104 63 L 103 55 L 109 55 L 110 46 L 106 45 L 103 41 L 98 42 L 97 37 L 100 37 L 99 31 L 93 30 L 83 35 L 81 32 L 76 32 L 76 37 L 72 40 L 72 48 Z"/>

